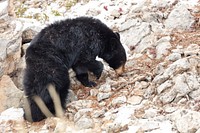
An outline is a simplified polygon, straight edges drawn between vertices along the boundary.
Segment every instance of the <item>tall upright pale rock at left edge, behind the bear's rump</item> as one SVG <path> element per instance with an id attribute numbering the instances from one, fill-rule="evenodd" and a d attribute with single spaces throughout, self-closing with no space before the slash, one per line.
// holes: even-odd
<path id="1" fill-rule="evenodd" d="M 22 24 L 17 20 L 7 20 L 0 23 L 4 31 L 0 34 L 0 77 L 17 69 L 21 58 Z"/>

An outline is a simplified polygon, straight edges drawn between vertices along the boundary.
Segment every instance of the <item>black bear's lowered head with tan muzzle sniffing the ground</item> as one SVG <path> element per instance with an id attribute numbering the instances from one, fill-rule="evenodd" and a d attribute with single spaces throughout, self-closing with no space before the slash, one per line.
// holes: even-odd
<path id="1" fill-rule="evenodd" d="M 114 35 L 107 40 L 101 58 L 104 59 L 118 75 L 124 72 L 127 59 L 125 49 L 120 42 L 119 33 L 114 33 Z"/>

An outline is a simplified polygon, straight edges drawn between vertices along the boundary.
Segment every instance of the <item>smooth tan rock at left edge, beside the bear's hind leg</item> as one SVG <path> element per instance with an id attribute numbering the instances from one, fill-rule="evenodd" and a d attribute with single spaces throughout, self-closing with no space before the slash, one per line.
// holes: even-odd
<path id="1" fill-rule="evenodd" d="M 20 107 L 23 99 L 23 92 L 17 89 L 11 78 L 7 75 L 0 80 L 0 112 L 11 107 Z"/>

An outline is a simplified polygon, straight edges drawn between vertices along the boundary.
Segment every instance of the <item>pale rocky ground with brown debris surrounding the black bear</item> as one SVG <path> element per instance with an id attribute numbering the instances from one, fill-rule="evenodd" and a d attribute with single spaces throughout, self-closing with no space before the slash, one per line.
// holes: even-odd
<path id="1" fill-rule="evenodd" d="M 198 0 L 15 1 L 18 18 L 7 3 L 0 1 L 0 132 L 200 133 Z M 87 88 L 70 71 L 65 118 L 29 123 L 24 49 L 46 24 L 77 16 L 121 34 L 126 72 L 117 77 L 105 64 L 98 85 Z"/>

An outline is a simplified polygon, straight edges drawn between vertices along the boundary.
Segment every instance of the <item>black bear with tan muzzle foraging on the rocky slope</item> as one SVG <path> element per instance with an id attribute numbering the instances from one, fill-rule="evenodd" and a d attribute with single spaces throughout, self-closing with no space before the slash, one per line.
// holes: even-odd
<path id="1" fill-rule="evenodd" d="M 56 113 L 55 102 L 49 92 L 52 87 L 48 88 L 49 85 L 55 87 L 62 109 L 65 109 L 70 68 L 84 86 L 95 86 L 96 83 L 88 79 L 88 71 L 97 78 L 101 76 L 103 64 L 95 60 L 97 56 L 106 61 L 116 73 L 123 72 L 126 53 L 120 36 L 98 19 L 66 19 L 41 30 L 31 41 L 25 55 L 23 84 L 32 120 L 46 118 L 36 104 L 36 97 L 43 101 L 53 115 Z"/>

